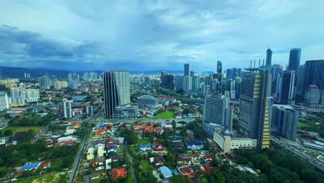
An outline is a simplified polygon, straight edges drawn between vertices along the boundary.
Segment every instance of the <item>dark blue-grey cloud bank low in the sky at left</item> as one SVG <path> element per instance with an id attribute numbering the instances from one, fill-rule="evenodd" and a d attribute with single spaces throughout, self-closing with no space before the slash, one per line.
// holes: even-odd
<path id="1" fill-rule="evenodd" d="M 82 42 L 60 42 L 39 33 L 20 30 L 16 27 L 0 26 L 0 54 L 26 55 L 30 58 L 78 59 L 99 53 L 100 43 L 89 40 Z M 100 53 L 101 54 L 101 53 Z"/>

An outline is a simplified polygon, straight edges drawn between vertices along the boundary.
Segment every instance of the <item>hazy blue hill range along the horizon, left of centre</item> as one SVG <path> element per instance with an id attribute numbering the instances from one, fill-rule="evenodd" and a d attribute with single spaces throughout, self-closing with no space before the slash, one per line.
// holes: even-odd
<path id="1" fill-rule="evenodd" d="M 89 72 L 89 71 L 64 71 L 64 70 L 53 70 L 53 69 L 32 69 L 32 68 L 23 68 L 23 67 L 4 67 L 0 66 L 1 69 L 1 76 L 2 78 L 24 78 L 24 73 L 30 73 L 30 77 L 32 78 L 39 78 L 48 74 L 49 76 L 56 76 L 61 78 L 66 78 L 67 75 L 71 72 L 79 73 L 82 76 L 82 73 Z M 173 74 L 182 74 L 183 71 L 181 70 L 155 70 L 155 71 L 129 71 L 132 74 L 159 74 L 161 71 L 166 71 L 166 73 L 173 73 Z M 102 73 L 102 71 L 93 71 L 98 74 Z"/>

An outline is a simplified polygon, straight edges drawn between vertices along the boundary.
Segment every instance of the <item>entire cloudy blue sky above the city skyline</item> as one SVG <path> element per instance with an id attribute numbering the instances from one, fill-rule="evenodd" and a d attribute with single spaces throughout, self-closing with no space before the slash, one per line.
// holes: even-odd
<path id="1" fill-rule="evenodd" d="M 324 58 L 324 1 L 0 1 L 0 65 L 65 70 L 286 66 Z"/>

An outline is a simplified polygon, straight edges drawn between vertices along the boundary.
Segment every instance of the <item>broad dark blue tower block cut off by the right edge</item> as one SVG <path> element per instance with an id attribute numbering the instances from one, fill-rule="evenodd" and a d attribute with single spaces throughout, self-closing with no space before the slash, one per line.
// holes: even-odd
<path id="1" fill-rule="evenodd" d="M 308 60 L 305 62 L 304 89 L 316 85 L 324 89 L 324 60 Z"/>

